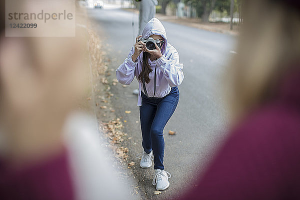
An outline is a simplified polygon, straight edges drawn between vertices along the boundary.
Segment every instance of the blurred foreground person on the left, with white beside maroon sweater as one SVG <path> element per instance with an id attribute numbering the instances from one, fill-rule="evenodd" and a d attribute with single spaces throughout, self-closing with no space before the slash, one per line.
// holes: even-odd
<path id="1" fill-rule="evenodd" d="M 88 90 L 86 28 L 75 37 L 5 37 L 4 26 L 1 14 L 0 199 L 126 198 L 96 122 L 71 114 Z"/>

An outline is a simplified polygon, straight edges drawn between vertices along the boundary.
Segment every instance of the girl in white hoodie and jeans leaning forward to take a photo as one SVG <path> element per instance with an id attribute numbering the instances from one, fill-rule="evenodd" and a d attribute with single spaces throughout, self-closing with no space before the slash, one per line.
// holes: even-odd
<path id="1" fill-rule="evenodd" d="M 155 49 L 149 50 L 139 40 L 149 37 L 155 40 Z M 134 76 L 139 82 L 137 105 L 143 147 L 140 167 L 150 167 L 153 155 L 155 176 L 152 184 L 158 190 L 169 186 L 170 174 L 163 166 L 163 128 L 179 100 L 177 86 L 184 78 L 182 68 L 177 50 L 167 42 L 163 25 L 153 17 L 146 23 L 142 35 L 136 38 L 136 43 L 124 62 L 116 69 L 116 77 L 120 83 L 130 84 Z"/>

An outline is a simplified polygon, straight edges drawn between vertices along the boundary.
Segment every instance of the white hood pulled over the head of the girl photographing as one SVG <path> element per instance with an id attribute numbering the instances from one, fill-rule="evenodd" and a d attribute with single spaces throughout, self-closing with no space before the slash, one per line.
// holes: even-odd
<path id="1" fill-rule="evenodd" d="M 161 48 L 162 54 L 165 52 L 165 48 L 167 45 L 167 39 L 166 39 L 166 32 L 162 25 L 162 23 L 159 21 L 159 19 L 153 17 L 151 18 L 145 25 L 143 31 L 142 31 L 142 38 L 148 38 L 151 34 L 157 34 L 163 37 L 164 43 Z"/>

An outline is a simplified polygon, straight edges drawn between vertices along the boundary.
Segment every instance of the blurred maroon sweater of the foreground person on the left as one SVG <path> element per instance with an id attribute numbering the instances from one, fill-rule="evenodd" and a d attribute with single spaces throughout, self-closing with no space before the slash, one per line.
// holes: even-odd
<path id="1" fill-rule="evenodd" d="M 67 151 L 19 170 L 0 162 L 0 199 L 74 199 Z"/>

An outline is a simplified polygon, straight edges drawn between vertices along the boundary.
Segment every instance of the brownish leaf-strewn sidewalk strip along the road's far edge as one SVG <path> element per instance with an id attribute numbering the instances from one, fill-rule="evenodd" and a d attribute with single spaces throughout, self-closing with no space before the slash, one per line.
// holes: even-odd
<path id="1" fill-rule="evenodd" d="M 131 8 L 123 8 L 123 10 L 132 12 Z M 137 9 L 134 9 L 134 12 L 138 14 Z M 234 36 L 238 35 L 238 26 L 233 25 L 233 29 L 230 30 L 229 23 L 221 23 L 221 22 L 203 23 L 201 22 L 200 18 L 178 18 L 176 16 L 166 16 L 160 13 L 156 13 L 155 17 L 162 21 L 178 23 L 189 27 L 199 28 L 199 29 L 208 30 L 212 32 L 221 32 L 221 33 L 230 34 Z"/>

